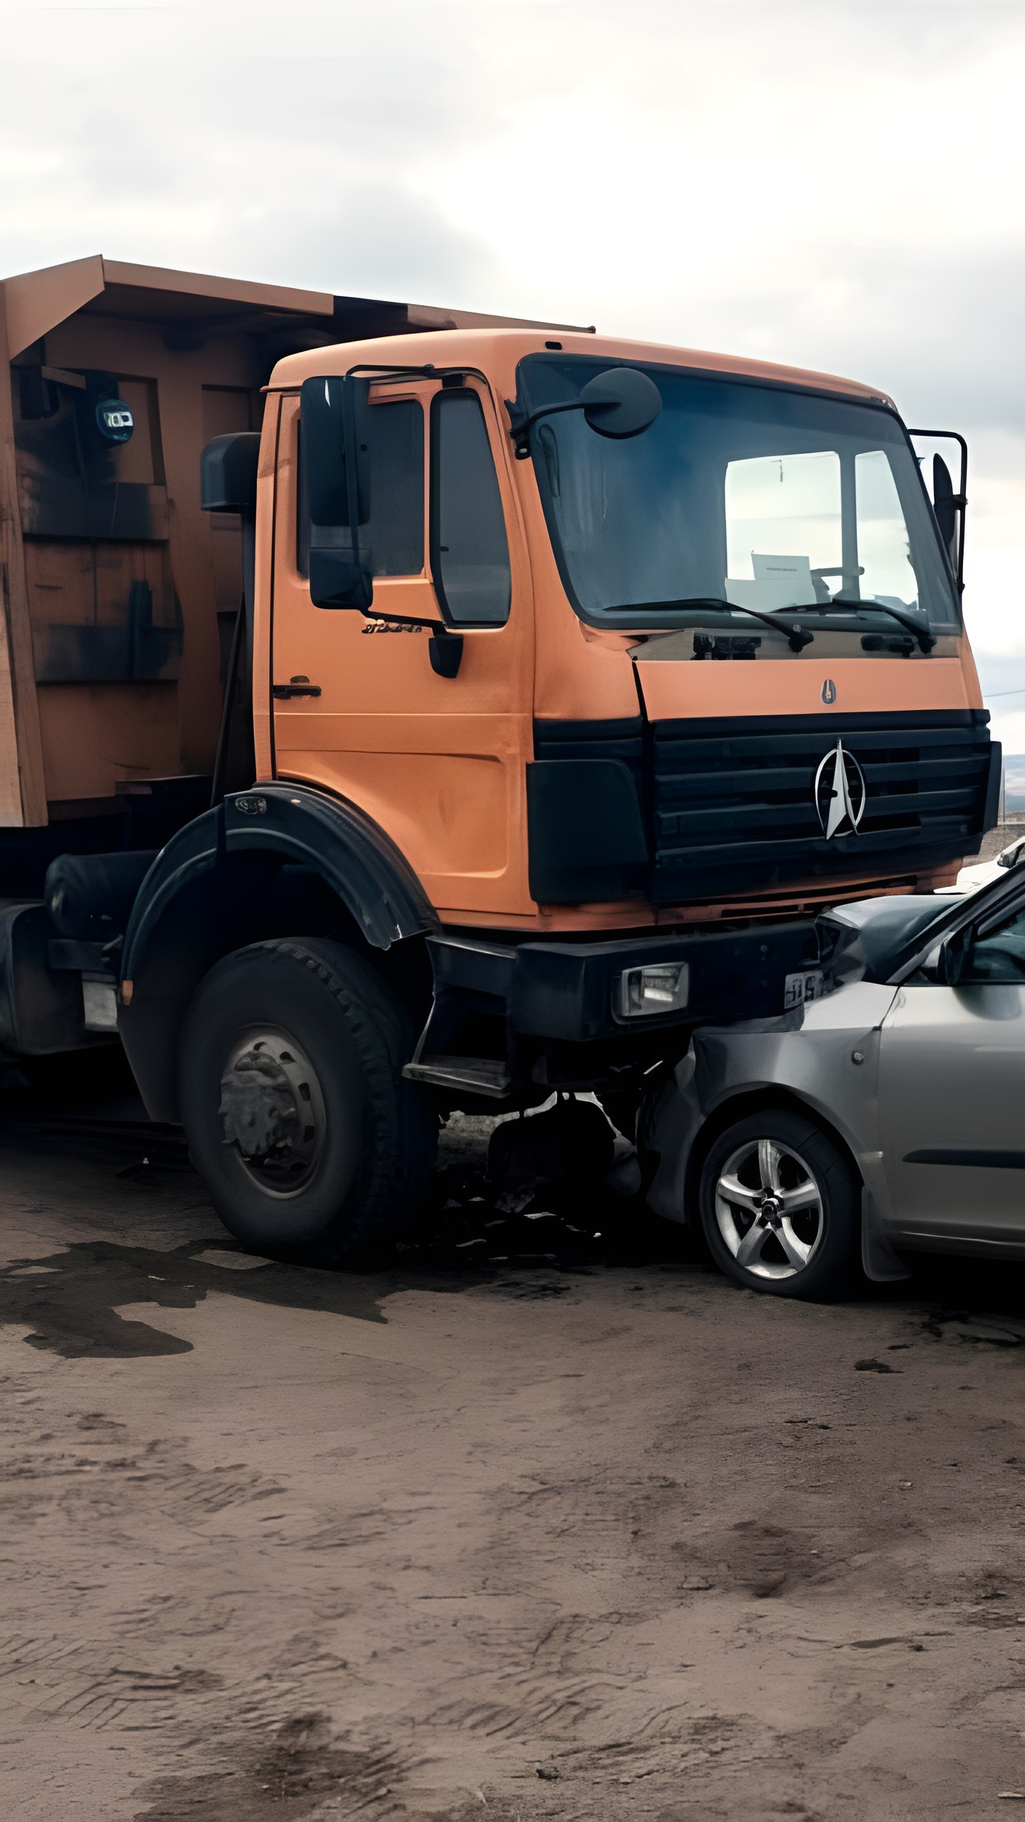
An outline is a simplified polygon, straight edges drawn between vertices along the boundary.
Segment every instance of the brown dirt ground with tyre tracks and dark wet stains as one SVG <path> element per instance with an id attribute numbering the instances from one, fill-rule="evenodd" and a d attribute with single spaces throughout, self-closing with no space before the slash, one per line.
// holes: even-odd
<path id="1" fill-rule="evenodd" d="M 1014 1815 L 1025 1275 L 748 1295 L 629 1203 L 502 1226 L 481 1130 L 352 1274 L 175 1135 L 2 1126 L 4 1815 Z"/>

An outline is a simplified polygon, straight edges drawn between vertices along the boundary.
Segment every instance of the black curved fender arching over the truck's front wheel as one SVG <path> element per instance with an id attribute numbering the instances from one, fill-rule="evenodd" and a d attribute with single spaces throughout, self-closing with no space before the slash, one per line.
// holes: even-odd
<path id="1" fill-rule="evenodd" d="M 254 940 L 252 907 L 232 895 L 232 862 L 261 855 L 317 873 L 374 949 L 440 929 L 405 856 L 354 804 L 292 783 L 232 793 L 157 855 L 124 937 L 119 1029 L 151 1119 L 179 1119 L 179 1029 L 199 980 Z"/>

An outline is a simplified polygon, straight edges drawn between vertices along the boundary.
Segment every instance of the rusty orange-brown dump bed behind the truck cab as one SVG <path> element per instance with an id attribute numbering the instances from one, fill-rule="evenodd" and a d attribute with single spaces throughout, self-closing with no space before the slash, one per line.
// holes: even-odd
<path id="1" fill-rule="evenodd" d="M 98 255 L 0 284 L 0 895 L 206 807 L 241 525 L 201 510 L 199 454 L 259 428 L 274 363 L 512 321 Z M 98 428 L 104 401 L 126 441 Z"/>

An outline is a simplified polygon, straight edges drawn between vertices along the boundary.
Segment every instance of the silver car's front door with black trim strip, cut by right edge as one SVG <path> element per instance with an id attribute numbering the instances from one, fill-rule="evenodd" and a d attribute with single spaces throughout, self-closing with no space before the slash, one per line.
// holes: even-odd
<path id="1" fill-rule="evenodd" d="M 879 1046 L 896 1228 L 1025 1244 L 1025 891 L 968 927 L 956 986 L 919 980 Z"/>

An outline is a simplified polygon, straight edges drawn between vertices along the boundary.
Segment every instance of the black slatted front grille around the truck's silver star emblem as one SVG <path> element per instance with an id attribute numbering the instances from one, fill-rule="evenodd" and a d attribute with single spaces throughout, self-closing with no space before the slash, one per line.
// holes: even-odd
<path id="1" fill-rule="evenodd" d="M 872 873 L 974 853 L 987 825 L 989 716 L 759 716 L 651 729 L 657 904 Z M 815 774 L 837 738 L 865 776 L 857 834 L 826 842 Z"/>

